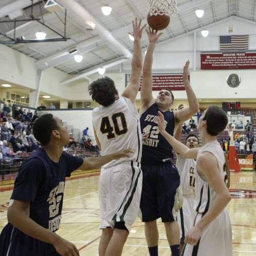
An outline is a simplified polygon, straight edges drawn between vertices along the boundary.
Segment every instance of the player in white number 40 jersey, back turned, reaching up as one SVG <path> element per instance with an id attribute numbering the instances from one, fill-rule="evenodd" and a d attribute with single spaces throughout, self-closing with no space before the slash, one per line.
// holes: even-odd
<path id="1" fill-rule="evenodd" d="M 129 85 L 118 96 L 115 83 L 108 77 L 89 86 L 89 94 L 101 106 L 93 111 L 96 141 L 102 155 L 117 149 L 132 149 L 130 158 L 111 161 L 101 169 L 99 201 L 102 235 L 100 256 L 119 256 L 140 205 L 142 137 L 136 96 L 142 70 L 141 36 L 145 26 L 133 22 L 134 53 Z"/>

